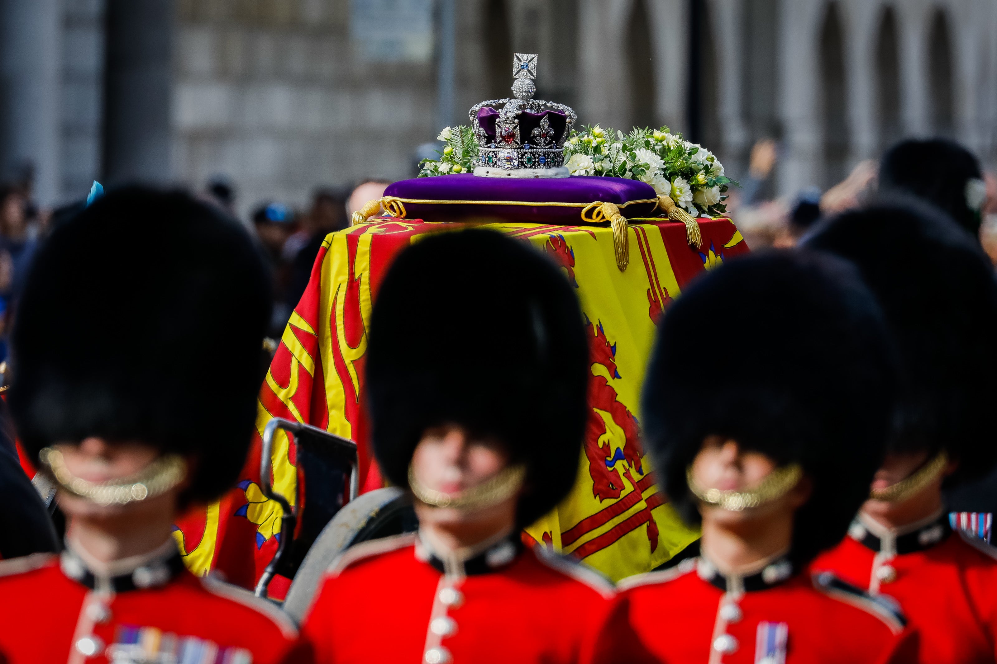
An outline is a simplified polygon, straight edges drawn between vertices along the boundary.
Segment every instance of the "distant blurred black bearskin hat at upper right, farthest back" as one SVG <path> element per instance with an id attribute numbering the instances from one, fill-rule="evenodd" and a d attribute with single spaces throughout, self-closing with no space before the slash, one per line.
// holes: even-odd
<path id="1" fill-rule="evenodd" d="M 951 215 L 974 238 L 980 232 L 980 210 L 969 206 L 967 186 L 970 180 L 982 177 L 973 153 L 946 138 L 903 140 L 891 147 L 879 164 L 879 190 L 883 194 L 928 201 Z"/>

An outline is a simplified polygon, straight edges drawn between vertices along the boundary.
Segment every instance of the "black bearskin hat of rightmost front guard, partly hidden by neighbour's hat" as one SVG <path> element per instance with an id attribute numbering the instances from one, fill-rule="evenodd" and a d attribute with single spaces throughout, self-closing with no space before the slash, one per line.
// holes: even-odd
<path id="1" fill-rule="evenodd" d="M 960 462 L 948 487 L 985 474 L 997 460 L 997 282 L 979 245 L 915 200 L 842 214 L 807 245 L 858 267 L 896 340 L 899 402 L 887 449 L 945 448 Z"/>

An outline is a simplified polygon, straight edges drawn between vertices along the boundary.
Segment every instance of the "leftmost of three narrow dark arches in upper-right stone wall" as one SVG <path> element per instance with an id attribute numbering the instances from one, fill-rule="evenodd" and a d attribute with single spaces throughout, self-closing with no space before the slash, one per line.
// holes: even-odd
<path id="1" fill-rule="evenodd" d="M 824 120 L 825 185 L 844 179 L 848 158 L 844 30 L 837 2 L 829 2 L 821 28 L 821 107 Z"/>

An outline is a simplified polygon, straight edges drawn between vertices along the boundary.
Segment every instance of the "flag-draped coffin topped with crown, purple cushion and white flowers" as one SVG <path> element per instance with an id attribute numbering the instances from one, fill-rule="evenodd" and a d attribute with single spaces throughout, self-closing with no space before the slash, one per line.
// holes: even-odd
<path id="1" fill-rule="evenodd" d="M 659 491 L 644 455 L 640 389 L 655 323 L 669 303 L 696 275 L 748 251 L 722 217 L 731 180 L 712 153 L 667 127 L 629 134 L 598 125 L 573 129 L 573 110 L 532 99 L 536 65 L 535 55 L 515 54 L 513 98 L 473 107 L 471 126 L 441 132 L 441 158 L 424 160 L 419 178 L 391 185 L 355 213 L 351 228 L 326 238 L 260 390 L 242 480 L 177 526 L 194 572 L 219 569 L 250 587 L 276 552 L 282 512 L 263 496 L 258 476 L 260 436 L 273 417 L 356 441 L 361 487 L 382 486 L 364 411 L 378 286 L 405 247 L 469 224 L 528 242 L 559 265 L 588 332 L 589 412 L 577 482 L 523 538 L 618 580 L 654 568 L 698 537 Z M 375 216 L 382 209 L 387 216 Z M 432 332 L 412 331 L 413 343 L 434 343 L 446 353 L 446 335 Z M 689 347 L 718 350 L 697 349 L 695 339 Z M 293 505 L 300 478 L 282 431 L 271 461 L 273 487 Z M 272 583 L 270 595 L 280 596 L 286 584 Z"/>

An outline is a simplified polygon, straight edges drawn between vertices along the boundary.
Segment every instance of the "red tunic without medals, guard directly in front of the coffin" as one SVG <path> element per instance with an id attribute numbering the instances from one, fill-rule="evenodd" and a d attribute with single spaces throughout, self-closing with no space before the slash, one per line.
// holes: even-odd
<path id="1" fill-rule="evenodd" d="M 321 664 L 572 664 L 610 608 L 609 583 L 515 540 L 441 559 L 416 535 L 358 545 L 305 618 Z"/>

